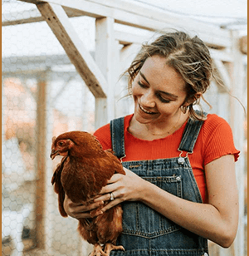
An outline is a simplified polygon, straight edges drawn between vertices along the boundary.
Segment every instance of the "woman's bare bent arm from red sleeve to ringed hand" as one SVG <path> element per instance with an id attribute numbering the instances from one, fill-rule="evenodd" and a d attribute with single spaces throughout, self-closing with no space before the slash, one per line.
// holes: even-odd
<path id="1" fill-rule="evenodd" d="M 109 200 L 113 192 L 115 200 L 102 210 L 110 209 L 125 200 L 140 200 L 160 214 L 189 231 L 210 239 L 222 247 L 229 247 L 237 233 L 238 195 L 234 156 L 224 155 L 205 166 L 208 204 L 193 203 L 161 190 L 125 170 L 126 175 L 114 175 L 104 194 L 95 202 Z"/>

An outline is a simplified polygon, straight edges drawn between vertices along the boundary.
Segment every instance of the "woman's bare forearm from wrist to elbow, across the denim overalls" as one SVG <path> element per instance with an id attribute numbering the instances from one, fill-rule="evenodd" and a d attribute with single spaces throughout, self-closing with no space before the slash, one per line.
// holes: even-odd
<path id="1" fill-rule="evenodd" d="M 227 247 L 234 236 L 234 221 L 212 204 L 198 204 L 178 198 L 156 185 L 144 182 L 140 201 L 171 219 L 184 229 Z M 237 205 L 234 205 L 237 207 Z"/>

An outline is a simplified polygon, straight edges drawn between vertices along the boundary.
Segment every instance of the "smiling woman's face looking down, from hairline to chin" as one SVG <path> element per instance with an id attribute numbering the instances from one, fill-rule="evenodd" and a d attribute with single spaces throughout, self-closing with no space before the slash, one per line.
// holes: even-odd
<path id="1" fill-rule="evenodd" d="M 185 81 L 165 62 L 164 57 L 149 57 L 132 83 L 134 117 L 140 123 L 173 120 L 186 99 Z"/>

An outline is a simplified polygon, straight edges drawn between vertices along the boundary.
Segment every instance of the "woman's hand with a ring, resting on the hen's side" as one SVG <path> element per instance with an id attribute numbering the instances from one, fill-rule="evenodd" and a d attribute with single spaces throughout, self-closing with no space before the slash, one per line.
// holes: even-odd
<path id="1" fill-rule="evenodd" d="M 114 200 L 106 204 L 103 209 L 110 209 L 116 204 L 120 204 L 124 201 L 137 201 L 141 199 L 144 190 L 145 180 L 135 175 L 134 172 L 124 167 L 125 175 L 115 174 L 108 181 L 101 191 L 100 194 L 94 199 L 95 203 L 101 201 L 110 201 L 110 193 L 114 195 Z"/>

